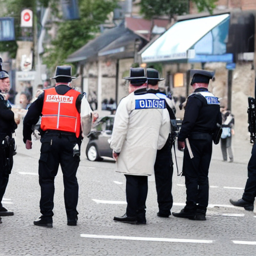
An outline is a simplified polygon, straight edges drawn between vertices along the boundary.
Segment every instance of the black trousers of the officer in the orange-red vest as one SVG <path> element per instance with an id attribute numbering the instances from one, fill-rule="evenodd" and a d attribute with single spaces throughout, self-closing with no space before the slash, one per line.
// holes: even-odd
<path id="1" fill-rule="evenodd" d="M 73 156 L 73 147 L 77 141 L 74 133 L 68 134 L 58 131 L 46 132 L 41 137 L 38 172 L 41 188 L 40 212 L 45 217 L 53 216 L 54 178 L 59 164 L 63 173 L 64 203 L 67 217 L 74 219 L 78 214 L 76 211 L 78 201 L 76 171 L 80 157 L 78 155 Z"/>

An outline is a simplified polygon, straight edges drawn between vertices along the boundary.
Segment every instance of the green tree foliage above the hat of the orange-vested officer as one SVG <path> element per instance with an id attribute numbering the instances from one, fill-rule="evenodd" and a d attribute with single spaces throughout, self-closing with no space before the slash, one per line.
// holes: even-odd
<path id="1" fill-rule="evenodd" d="M 56 65 L 66 63 L 65 59 L 75 50 L 92 39 L 99 32 L 99 25 L 117 6 L 117 0 L 79 0 L 79 20 L 66 20 L 59 23 L 52 47 L 47 49 L 43 62 L 54 70 Z"/>

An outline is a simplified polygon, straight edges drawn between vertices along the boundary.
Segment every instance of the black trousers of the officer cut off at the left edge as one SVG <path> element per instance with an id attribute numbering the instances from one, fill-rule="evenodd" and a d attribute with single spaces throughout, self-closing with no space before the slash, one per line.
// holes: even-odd
<path id="1" fill-rule="evenodd" d="M 4 145 L 2 144 L 2 141 L 4 140 L 5 136 L 7 134 L 0 134 L 0 207 L 2 207 L 2 198 L 9 180 L 9 174 L 12 169 L 13 165 L 13 154 L 8 154 L 9 156 L 9 167 L 6 167 L 6 150 L 4 148 Z M 9 135 L 11 138 L 11 135 Z"/>

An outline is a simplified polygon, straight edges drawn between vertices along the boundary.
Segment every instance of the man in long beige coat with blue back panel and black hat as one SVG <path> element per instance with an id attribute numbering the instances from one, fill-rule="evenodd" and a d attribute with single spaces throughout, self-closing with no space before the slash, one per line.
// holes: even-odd
<path id="1" fill-rule="evenodd" d="M 145 70 L 130 68 L 129 95 L 115 113 L 110 147 L 116 171 L 126 177 L 126 212 L 115 221 L 145 224 L 147 176 L 153 174 L 156 150 L 166 142 L 169 116 L 164 99 L 146 90 Z"/>

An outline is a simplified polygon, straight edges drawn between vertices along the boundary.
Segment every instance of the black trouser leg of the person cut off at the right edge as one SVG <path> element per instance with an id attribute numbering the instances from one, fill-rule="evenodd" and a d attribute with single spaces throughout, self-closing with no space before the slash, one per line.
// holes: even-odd
<path id="1" fill-rule="evenodd" d="M 256 144 L 254 143 L 251 150 L 251 156 L 247 165 L 248 178 L 245 184 L 242 199 L 248 202 L 254 202 L 256 196 Z"/>

